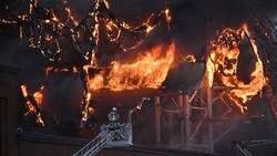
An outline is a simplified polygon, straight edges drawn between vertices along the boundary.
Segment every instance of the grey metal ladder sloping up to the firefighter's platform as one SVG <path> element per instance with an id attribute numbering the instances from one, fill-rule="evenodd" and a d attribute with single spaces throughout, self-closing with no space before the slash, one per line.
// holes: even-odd
<path id="1" fill-rule="evenodd" d="M 98 154 L 107 142 L 114 139 L 115 132 L 110 132 L 106 134 L 105 132 L 100 133 L 94 139 L 92 139 L 89 144 L 86 144 L 79 152 L 73 154 L 73 156 L 94 156 Z"/>

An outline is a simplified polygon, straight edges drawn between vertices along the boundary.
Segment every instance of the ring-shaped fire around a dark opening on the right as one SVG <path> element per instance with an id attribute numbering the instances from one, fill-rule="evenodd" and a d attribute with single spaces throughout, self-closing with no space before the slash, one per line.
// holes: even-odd
<path id="1" fill-rule="evenodd" d="M 250 37 L 252 34 L 246 24 L 238 30 L 229 28 L 223 30 L 218 39 L 212 42 L 214 51 L 211 53 L 206 64 L 209 86 L 213 85 L 214 74 L 218 73 L 218 77 L 225 86 L 234 87 L 228 96 L 240 107 L 242 112 L 247 108 L 244 103 L 252 100 L 265 85 L 263 62 L 259 58 L 255 40 Z M 255 70 L 250 74 L 252 81 L 249 84 L 239 81 L 236 75 L 239 55 L 238 45 L 244 38 L 249 38 L 256 56 Z"/>

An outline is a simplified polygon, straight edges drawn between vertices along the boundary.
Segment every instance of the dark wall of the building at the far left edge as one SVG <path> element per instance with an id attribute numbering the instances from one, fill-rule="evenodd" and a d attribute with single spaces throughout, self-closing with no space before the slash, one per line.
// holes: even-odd
<path id="1" fill-rule="evenodd" d="M 0 155 L 17 156 L 18 107 L 16 104 L 17 69 L 0 65 Z"/>

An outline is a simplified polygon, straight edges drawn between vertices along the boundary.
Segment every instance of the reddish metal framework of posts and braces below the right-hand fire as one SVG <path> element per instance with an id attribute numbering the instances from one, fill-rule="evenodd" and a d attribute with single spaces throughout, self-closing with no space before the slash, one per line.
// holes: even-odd
<path id="1" fill-rule="evenodd" d="M 244 118 L 228 117 L 233 113 L 232 106 L 226 102 L 232 87 L 202 84 L 201 90 L 177 93 L 160 93 L 155 96 L 155 144 L 164 144 L 167 138 L 168 146 L 185 149 L 202 149 L 214 152 L 214 144 L 234 129 Z M 212 94 L 217 92 L 217 94 Z M 214 105 L 220 103 L 224 111 L 213 115 Z M 227 124 L 226 128 L 214 131 L 217 122 Z M 166 133 L 170 132 L 170 133 Z M 165 135 L 168 136 L 165 136 Z M 174 139 L 175 138 L 175 139 Z M 176 139 L 178 138 L 178 139 Z"/>

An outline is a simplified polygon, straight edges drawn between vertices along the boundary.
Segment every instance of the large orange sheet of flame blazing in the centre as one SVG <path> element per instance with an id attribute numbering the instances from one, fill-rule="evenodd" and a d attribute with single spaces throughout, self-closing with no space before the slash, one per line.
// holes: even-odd
<path id="1" fill-rule="evenodd" d="M 175 44 L 172 43 L 162 56 L 162 45 L 140 54 L 134 63 L 121 63 L 113 61 L 111 71 L 101 71 L 89 79 L 90 92 L 100 89 L 112 91 L 135 90 L 135 89 L 158 89 L 164 82 L 170 65 L 174 59 Z M 105 76 L 106 75 L 106 76 Z"/>

